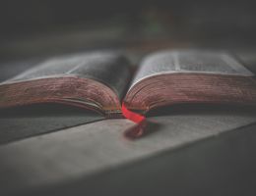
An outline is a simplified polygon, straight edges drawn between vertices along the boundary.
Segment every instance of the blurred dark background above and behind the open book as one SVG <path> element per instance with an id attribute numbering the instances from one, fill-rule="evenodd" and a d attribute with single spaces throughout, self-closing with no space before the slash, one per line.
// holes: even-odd
<path id="1" fill-rule="evenodd" d="M 254 54 L 254 2 L 1 1 L 0 58 L 9 61 L 97 48 L 204 47 Z"/>

